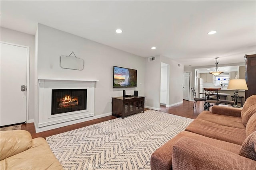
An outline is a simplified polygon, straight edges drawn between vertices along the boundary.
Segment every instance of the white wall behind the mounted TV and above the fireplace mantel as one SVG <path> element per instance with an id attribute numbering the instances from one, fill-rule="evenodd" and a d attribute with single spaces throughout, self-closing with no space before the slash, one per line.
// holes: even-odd
<path id="1" fill-rule="evenodd" d="M 95 88 L 94 115 L 112 112 L 111 97 L 122 96 L 122 90 L 126 90 L 126 94 L 138 90 L 138 95 L 144 96 L 144 58 L 42 24 L 38 24 L 37 36 L 38 78 L 99 80 Z M 72 51 L 84 59 L 84 70 L 60 67 L 60 56 L 68 56 Z M 113 66 L 136 69 L 137 88 L 113 88 Z"/>

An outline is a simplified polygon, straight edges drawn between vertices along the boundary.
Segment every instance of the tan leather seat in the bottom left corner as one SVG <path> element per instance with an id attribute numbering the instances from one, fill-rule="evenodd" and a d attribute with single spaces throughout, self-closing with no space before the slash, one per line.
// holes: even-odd
<path id="1" fill-rule="evenodd" d="M 0 141 L 0 170 L 63 170 L 46 140 L 28 131 L 1 131 Z"/>

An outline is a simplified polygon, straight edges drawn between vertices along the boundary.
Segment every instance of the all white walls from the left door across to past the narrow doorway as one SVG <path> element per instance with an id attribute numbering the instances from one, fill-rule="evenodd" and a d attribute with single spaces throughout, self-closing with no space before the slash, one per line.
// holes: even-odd
<path id="1" fill-rule="evenodd" d="M 95 89 L 94 115 L 110 113 L 112 98 L 133 94 L 138 90 L 146 96 L 146 106 L 160 109 L 161 62 L 169 64 L 169 102 L 172 106 L 182 102 L 183 65 L 164 56 L 157 56 L 148 62 L 142 58 L 112 47 L 38 24 L 36 35 L 1 28 L 1 41 L 30 47 L 30 102 L 29 119 L 38 120 L 38 77 L 97 79 Z M 35 45 L 36 44 L 36 45 Z M 60 56 L 74 51 L 85 61 L 84 70 L 69 70 L 60 67 Z M 35 57 L 37 56 L 37 57 Z M 112 88 L 113 66 L 137 69 L 137 88 Z M 140 86 L 141 84 L 141 86 Z"/>

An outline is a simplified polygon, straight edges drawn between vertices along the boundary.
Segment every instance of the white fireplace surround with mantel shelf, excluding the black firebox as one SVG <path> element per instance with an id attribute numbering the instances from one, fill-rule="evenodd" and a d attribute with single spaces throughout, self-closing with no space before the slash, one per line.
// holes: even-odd
<path id="1" fill-rule="evenodd" d="M 94 116 L 94 86 L 98 80 L 39 78 L 39 115 L 36 133 L 86 121 Z M 85 110 L 52 115 L 52 90 L 87 89 Z"/>

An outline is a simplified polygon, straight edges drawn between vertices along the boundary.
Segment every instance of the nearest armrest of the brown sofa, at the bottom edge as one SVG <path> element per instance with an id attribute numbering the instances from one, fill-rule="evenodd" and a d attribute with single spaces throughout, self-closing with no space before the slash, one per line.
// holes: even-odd
<path id="1" fill-rule="evenodd" d="M 173 170 L 255 169 L 256 161 L 188 137 L 180 138 L 173 147 Z"/>

